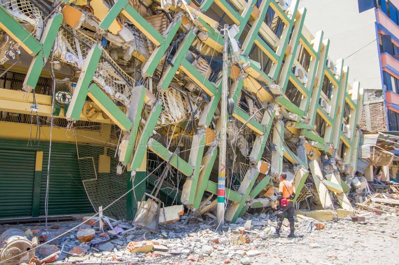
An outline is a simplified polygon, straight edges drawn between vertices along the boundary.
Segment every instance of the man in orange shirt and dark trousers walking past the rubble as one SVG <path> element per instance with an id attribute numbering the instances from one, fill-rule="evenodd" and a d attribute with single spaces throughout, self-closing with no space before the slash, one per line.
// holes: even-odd
<path id="1" fill-rule="evenodd" d="M 284 214 L 287 213 L 287 219 L 290 222 L 290 234 L 289 238 L 295 238 L 295 221 L 294 221 L 294 203 L 295 197 L 294 188 L 292 183 L 287 180 L 287 174 L 285 172 L 280 173 L 280 185 L 278 188 L 278 196 L 274 209 L 278 209 L 277 212 L 277 226 L 276 232 L 271 237 L 280 237 L 280 229 L 283 224 Z"/>

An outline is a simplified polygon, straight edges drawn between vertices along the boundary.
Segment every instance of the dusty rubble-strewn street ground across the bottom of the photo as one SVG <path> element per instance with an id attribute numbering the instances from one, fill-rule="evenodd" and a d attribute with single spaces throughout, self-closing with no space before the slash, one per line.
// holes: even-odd
<path id="1" fill-rule="evenodd" d="M 98 231 L 97 223 L 62 235 L 79 222 L 52 222 L 47 236 L 55 240 L 37 249 L 36 256 L 42 259 L 62 250 L 56 264 L 399 264 L 399 217 L 367 212 L 363 216 L 366 221 L 356 223 L 350 218 L 320 222 L 298 215 L 295 239 L 286 238 L 285 226 L 280 238 L 271 238 L 276 219 L 266 214 L 239 218 L 236 224 L 225 225 L 222 233 L 208 225 L 209 219 L 184 215 L 181 221 L 160 227 L 166 237 L 122 221 L 113 223 L 124 230 L 117 235 L 106 228 L 106 234 Z M 319 223 L 325 228 L 315 230 Z M 0 233 L 9 228 L 44 234 L 42 223 L 2 225 Z M 79 242 L 79 230 L 88 229 L 94 237 Z M 146 244 L 154 244 L 153 251 L 132 253 Z"/>

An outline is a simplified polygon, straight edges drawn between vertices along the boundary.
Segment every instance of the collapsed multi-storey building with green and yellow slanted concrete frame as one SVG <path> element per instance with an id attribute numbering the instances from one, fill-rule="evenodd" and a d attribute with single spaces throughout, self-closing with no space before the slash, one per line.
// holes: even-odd
<path id="1" fill-rule="evenodd" d="M 151 196 L 209 211 L 221 127 L 227 221 L 271 206 L 281 171 L 298 209 L 346 217 L 362 90 L 298 4 L 1 0 L 0 218 L 98 212 L 120 197 L 104 214 L 132 220 Z"/>

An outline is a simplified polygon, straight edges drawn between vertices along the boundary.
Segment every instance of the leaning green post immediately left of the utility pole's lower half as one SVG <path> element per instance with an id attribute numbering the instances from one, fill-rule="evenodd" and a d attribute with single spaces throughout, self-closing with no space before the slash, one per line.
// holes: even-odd
<path id="1" fill-rule="evenodd" d="M 198 209 L 200 207 L 202 196 L 208 186 L 209 176 L 210 173 L 212 172 L 216 156 L 217 156 L 217 146 L 211 146 L 204 155 L 204 157 L 202 158 L 201 165 L 203 165 L 203 168 L 200 171 L 198 179 L 197 191 L 193 204 L 194 209 Z"/>

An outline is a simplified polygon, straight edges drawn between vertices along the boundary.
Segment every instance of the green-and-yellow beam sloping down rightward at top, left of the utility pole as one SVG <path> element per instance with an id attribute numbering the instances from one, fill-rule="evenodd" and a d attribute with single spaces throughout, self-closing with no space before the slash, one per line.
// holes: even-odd
<path id="1" fill-rule="evenodd" d="M 142 17 L 136 9 L 130 4 L 126 5 L 122 10 L 122 14 L 127 17 L 147 38 L 149 38 L 155 45 L 161 45 L 164 42 L 164 37 L 159 33 L 144 17 Z"/>

